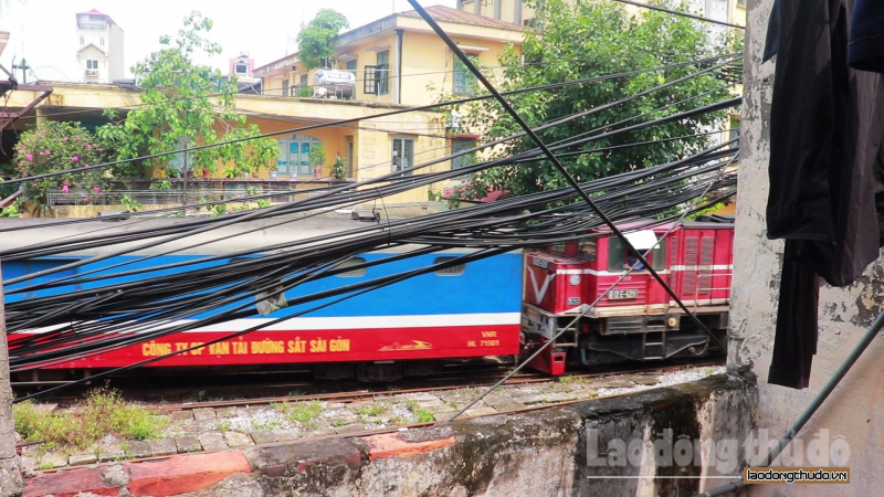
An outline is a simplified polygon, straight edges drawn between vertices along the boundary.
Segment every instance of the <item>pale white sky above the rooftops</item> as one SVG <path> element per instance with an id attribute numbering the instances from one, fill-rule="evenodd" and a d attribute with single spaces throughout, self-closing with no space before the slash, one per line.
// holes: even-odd
<path id="1" fill-rule="evenodd" d="M 454 8 L 456 0 L 422 0 L 421 4 Z M 224 50 L 198 62 L 227 74 L 229 59 L 240 52 L 249 52 L 255 67 L 294 52 L 301 23 L 313 19 L 320 8 L 341 12 L 350 28 L 389 15 L 393 9 L 411 10 L 407 0 L 27 0 L 24 56 L 40 80 L 76 81 L 81 71 L 75 14 L 95 9 L 123 29 L 125 77 L 131 77 L 129 68 L 159 49 L 159 38 L 177 34 L 183 19 L 197 10 L 212 19 L 208 38 Z"/>

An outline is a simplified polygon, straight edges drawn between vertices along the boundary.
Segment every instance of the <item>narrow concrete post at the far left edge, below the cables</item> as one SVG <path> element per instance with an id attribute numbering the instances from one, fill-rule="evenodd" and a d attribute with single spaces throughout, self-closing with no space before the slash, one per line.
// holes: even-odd
<path id="1" fill-rule="evenodd" d="M 9 383 L 3 272 L 0 268 L 0 497 L 21 495 L 21 469 L 15 453 L 15 420 L 12 417 L 12 387 Z"/>

